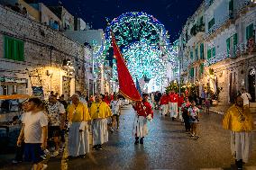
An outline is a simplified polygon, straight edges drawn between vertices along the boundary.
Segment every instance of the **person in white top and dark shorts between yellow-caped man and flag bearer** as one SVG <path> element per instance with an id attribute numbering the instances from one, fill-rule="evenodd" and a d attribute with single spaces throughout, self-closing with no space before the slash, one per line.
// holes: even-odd
<path id="1" fill-rule="evenodd" d="M 116 130 L 119 130 L 119 117 L 121 114 L 121 106 L 122 106 L 122 100 L 119 99 L 116 94 L 114 94 L 114 99 L 110 103 L 110 108 L 112 112 L 112 127 L 111 127 L 112 132 L 114 132 L 115 121 L 117 124 Z"/>

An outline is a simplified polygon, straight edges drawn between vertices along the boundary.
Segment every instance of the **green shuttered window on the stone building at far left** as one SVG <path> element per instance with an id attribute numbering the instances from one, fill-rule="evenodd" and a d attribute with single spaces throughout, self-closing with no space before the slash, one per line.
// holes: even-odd
<path id="1" fill-rule="evenodd" d="M 24 61 L 24 42 L 5 36 L 5 58 Z"/>

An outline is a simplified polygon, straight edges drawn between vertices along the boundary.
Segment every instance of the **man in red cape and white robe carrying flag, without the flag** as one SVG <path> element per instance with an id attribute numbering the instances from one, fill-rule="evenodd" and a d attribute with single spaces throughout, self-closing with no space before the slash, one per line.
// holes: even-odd
<path id="1" fill-rule="evenodd" d="M 151 104 L 148 102 L 148 94 L 142 95 L 142 103 L 133 103 L 133 109 L 136 112 L 133 122 L 133 135 L 135 137 L 134 144 L 144 143 L 144 137 L 148 135 L 147 121 L 153 119 L 153 111 Z"/>

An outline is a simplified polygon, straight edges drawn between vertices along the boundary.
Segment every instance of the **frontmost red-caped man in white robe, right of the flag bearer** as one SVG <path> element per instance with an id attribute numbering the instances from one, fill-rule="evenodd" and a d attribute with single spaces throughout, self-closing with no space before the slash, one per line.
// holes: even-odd
<path id="1" fill-rule="evenodd" d="M 169 94 L 169 112 L 172 121 L 175 121 L 178 117 L 178 94 L 174 90 Z"/>

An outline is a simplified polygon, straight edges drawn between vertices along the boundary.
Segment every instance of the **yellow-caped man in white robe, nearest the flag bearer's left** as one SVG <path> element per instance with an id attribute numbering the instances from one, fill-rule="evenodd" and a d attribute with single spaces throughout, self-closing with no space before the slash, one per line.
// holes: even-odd
<path id="1" fill-rule="evenodd" d="M 103 94 L 96 94 L 96 102 L 90 107 L 93 129 L 93 148 L 101 150 L 102 145 L 108 141 L 107 118 L 112 116 L 110 107 L 103 102 Z"/>

